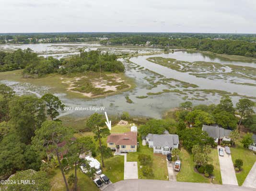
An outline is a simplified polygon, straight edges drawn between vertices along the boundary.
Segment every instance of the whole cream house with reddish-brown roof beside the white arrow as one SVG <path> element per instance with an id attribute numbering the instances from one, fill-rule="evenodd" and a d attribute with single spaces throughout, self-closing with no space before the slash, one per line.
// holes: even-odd
<path id="1" fill-rule="evenodd" d="M 131 130 L 135 130 L 134 128 Z M 111 133 L 107 137 L 107 147 L 116 153 L 137 151 L 137 131 L 127 133 Z"/>

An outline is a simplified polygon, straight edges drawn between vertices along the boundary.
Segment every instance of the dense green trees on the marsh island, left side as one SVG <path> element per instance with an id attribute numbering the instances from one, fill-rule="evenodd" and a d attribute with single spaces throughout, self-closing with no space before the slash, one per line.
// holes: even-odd
<path id="1" fill-rule="evenodd" d="M 61 67 L 60 67 L 61 66 Z M 24 69 L 26 76 L 59 73 L 80 73 L 86 71 L 124 72 L 122 62 L 117 61 L 114 54 L 99 51 L 84 52 L 73 55 L 69 59 L 44 58 L 38 56 L 31 49 L 18 49 L 13 53 L 0 52 L 0 72 Z"/>

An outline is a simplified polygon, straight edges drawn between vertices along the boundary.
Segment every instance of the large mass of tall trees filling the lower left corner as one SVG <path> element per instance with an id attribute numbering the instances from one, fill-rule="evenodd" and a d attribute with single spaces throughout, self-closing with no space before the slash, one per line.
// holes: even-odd
<path id="1" fill-rule="evenodd" d="M 7 191 L 49 191 L 49 176 L 56 167 L 61 171 L 66 190 L 69 191 L 70 187 L 77 190 L 78 167 L 83 165 L 86 175 L 91 178 L 95 173 L 80 154 L 99 154 L 103 167 L 104 159 L 112 156 L 111 149 L 101 144 L 101 138 L 110 134 L 105 127 L 104 116 L 95 113 L 84 124 L 95 134 L 95 141 L 100 143 L 96 147 L 93 138 L 73 138 L 73 129 L 63 126 L 58 119 L 59 110 L 63 107 L 57 96 L 17 96 L 12 88 L 0 85 L 0 179 L 15 174 L 11 180 L 21 180 L 21 177 L 36 180 L 33 186 L 7 185 Z M 59 153 L 64 150 L 68 152 L 61 159 Z M 66 177 L 69 170 L 74 170 L 74 173 Z"/>

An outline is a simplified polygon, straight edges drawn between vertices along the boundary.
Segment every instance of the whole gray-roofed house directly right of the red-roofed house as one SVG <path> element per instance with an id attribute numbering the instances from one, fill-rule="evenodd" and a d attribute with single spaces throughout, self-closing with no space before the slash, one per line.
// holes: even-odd
<path id="1" fill-rule="evenodd" d="M 146 142 L 149 148 L 153 148 L 154 153 L 167 155 L 172 149 L 179 147 L 179 136 L 148 134 Z"/>

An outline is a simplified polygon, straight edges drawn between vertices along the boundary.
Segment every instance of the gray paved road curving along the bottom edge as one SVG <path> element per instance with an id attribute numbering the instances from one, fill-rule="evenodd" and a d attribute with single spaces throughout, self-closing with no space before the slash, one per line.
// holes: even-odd
<path id="1" fill-rule="evenodd" d="M 235 185 L 219 185 L 165 180 L 122 180 L 109 185 L 104 191 L 256 191 Z"/>

